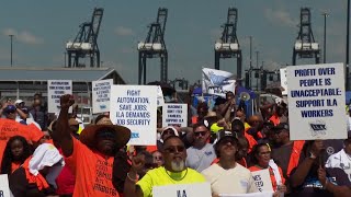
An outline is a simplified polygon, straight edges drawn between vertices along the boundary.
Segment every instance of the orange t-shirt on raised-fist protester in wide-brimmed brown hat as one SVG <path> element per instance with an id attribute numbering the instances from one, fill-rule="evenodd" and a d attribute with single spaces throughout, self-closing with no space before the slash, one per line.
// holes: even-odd
<path id="1" fill-rule="evenodd" d="M 113 157 L 104 155 L 89 149 L 76 138 L 72 155 L 66 158 L 67 165 L 76 175 L 73 196 L 118 197 L 112 185 Z"/>

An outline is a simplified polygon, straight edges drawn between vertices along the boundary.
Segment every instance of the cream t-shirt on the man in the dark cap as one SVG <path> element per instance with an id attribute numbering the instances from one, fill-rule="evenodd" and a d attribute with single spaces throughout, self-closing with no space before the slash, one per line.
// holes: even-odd
<path id="1" fill-rule="evenodd" d="M 236 167 L 229 170 L 225 170 L 218 164 L 213 164 L 204 170 L 202 174 L 211 183 L 212 193 L 216 195 L 259 192 L 251 172 L 238 163 Z"/>

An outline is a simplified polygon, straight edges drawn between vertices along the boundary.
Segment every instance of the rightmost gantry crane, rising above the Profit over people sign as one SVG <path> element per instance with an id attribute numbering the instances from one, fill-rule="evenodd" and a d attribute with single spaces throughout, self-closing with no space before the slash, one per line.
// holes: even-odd
<path id="1" fill-rule="evenodd" d="M 320 48 L 315 42 L 310 25 L 309 8 L 302 8 L 299 14 L 299 32 L 293 50 L 293 65 L 296 65 L 296 56 L 299 58 L 315 58 L 319 63 Z"/>

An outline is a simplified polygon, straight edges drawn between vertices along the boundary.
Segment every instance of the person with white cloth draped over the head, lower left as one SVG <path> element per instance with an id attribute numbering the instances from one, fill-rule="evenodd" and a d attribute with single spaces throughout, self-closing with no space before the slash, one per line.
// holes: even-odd
<path id="1" fill-rule="evenodd" d="M 63 155 L 50 143 L 38 146 L 33 155 L 10 175 L 14 197 L 55 195 L 55 179 L 65 165 Z"/>

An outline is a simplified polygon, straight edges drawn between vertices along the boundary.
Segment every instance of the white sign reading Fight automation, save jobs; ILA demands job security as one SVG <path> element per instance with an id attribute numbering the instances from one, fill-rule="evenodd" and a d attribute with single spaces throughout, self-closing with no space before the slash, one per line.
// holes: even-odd
<path id="1" fill-rule="evenodd" d="M 156 144 L 157 86 L 112 85 L 110 118 L 131 129 L 128 144 Z"/>

